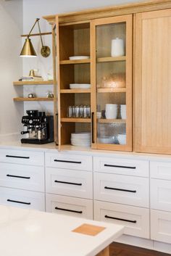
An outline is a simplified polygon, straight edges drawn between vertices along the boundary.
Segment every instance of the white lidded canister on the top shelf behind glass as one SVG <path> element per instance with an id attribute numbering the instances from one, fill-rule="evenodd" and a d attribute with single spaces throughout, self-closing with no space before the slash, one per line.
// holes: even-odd
<path id="1" fill-rule="evenodd" d="M 112 57 L 118 57 L 118 56 L 124 56 L 124 41 L 120 38 L 112 39 L 112 49 L 111 49 L 111 56 Z"/>

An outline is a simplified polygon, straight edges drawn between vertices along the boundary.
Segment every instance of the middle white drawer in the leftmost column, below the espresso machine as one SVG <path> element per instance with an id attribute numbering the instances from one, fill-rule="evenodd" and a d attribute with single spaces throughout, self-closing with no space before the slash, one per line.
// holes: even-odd
<path id="1" fill-rule="evenodd" d="M 44 168 L 0 162 L 0 186 L 43 192 Z"/>

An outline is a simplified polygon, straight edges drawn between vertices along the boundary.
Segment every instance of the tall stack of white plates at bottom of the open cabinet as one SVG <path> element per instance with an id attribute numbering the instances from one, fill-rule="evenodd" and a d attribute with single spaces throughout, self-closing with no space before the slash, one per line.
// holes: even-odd
<path id="1" fill-rule="evenodd" d="M 91 146 L 91 133 L 71 133 L 72 146 Z"/>

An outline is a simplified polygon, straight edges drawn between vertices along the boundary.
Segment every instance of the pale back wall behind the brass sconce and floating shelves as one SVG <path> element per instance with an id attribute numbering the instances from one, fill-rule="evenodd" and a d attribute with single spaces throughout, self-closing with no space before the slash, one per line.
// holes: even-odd
<path id="1" fill-rule="evenodd" d="M 23 0 L 23 30 L 24 33 L 28 33 L 30 28 L 33 25 L 33 22 L 36 20 L 36 17 L 42 17 L 43 15 L 54 15 L 64 12 L 76 12 L 82 9 L 91 9 L 95 7 L 107 7 L 114 4 L 122 4 L 132 2 L 131 0 Z M 51 26 L 45 20 L 41 19 L 41 30 L 43 32 L 50 31 Z M 38 27 L 33 30 L 35 33 L 38 32 Z M 39 37 L 32 37 L 33 45 L 35 46 L 38 58 L 32 59 L 23 59 L 23 74 L 28 75 L 29 70 L 33 68 L 38 68 L 40 74 L 43 75 L 43 78 L 47 78 L 47 73 L 52 68 L 52 59 L 43 58 L 40 56 L 41 41 Z M 51 46 L 51 36 L 44 36 L 43 41 Z M 52 91 L 50 87 L 44 87 L 43 91 L 36 87 L 26 88 L 25 96 L 29 92 L 37 91 L 38 96 L 45 96 L 47 91 Z M 33 103 L 25 102 L 25 110 L 30 108 L 35 108 L 38 110 L 44 110 L 46 112 L 53 112 L 53 105 L 51 102 L 48 103 Z"/>

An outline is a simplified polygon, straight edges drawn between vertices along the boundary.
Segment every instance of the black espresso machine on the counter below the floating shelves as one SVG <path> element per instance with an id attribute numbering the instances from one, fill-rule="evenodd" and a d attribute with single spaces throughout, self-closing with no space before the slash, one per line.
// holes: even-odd
<path id="1" fill-rule="evenodd" d="M 22 123 L 26 127 L 21 134 L 27 138 L 21 139 L 21 143 L 46 144 L 54 141 L 54 117 L 46 115 L 38 110 L 27 110 L 22 117 Z"/>

